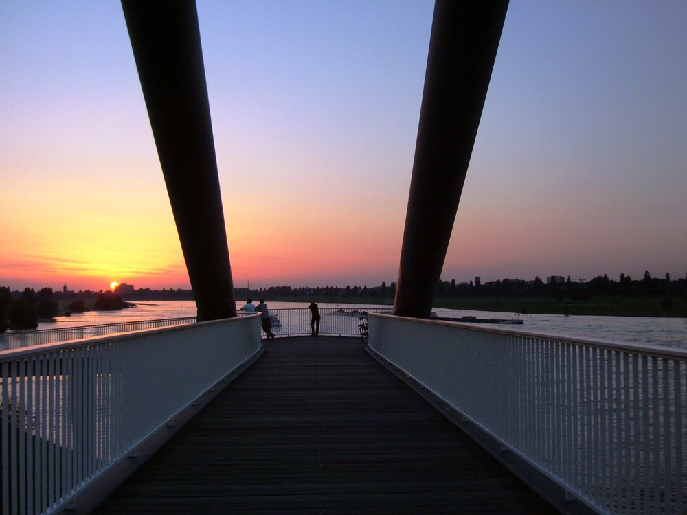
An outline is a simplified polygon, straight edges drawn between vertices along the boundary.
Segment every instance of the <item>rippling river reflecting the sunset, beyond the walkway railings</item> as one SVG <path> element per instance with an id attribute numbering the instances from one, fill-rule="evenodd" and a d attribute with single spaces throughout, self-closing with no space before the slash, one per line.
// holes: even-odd
<path id="1" fill-rule="evenodd" d="M 237 302 L 238 308 L 243 306 Z M 268 302 L 269 308 L 307 308 L 304 302 Z M 391 308 L 388 305 L 370 306 L 365 304 L 319 304 L 322 308 Z M 435 308 L 440 317 L 474 316 L 478 318 L 520 319 L 523 325 L 500 325 L 523 332 L 537 332 L 562 336 L 578 336 L 602 341 L 621 343 L 640 343 L 643 345 L 662 345 L 666 347 L 687 348 L 687 319 L 653 317 L 593 317 L 565 316 L 562 314 L 515 314 L 470 310 L 450 310 Z M 120 311 L 89 311 L 72 314 L 71 317 L 57 317 L 56 321 L 41 323 L 38 329 L 67 328 L 75 325 L 95 325 L 99 323 L 155 320 L 177 317 L 194 317 L 194 301 L 142 301 L 134 308 Z"/>

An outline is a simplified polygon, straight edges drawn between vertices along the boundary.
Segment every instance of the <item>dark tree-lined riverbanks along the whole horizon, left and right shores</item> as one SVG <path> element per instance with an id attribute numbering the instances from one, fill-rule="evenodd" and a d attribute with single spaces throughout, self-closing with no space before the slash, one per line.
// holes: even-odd
<path id="1" fill-rule="evenodd" d="M 561 278 L 562 279 L 562 278 Z M 270 301 L 304 302 L 317 299 L 330 304 L 381 304 L 392 305 L 396 284 L 368 288 L 359 286 L 325 286 L 324 288 L 271 286 L 269 288 L 236 288 L 236 299 L 264 297 Z M 181 300 L 193 299 L 191 290 L 135 290 L 126 299 Z M 600 315 L 618 317 L 679 317 L 687 318 L 687 276 L 672 280 L 644 277 L 633 280 L 620 274 L 620 281 L 599 275 L 591 281 L 552 279 L 548 283 L 539 277 L 533 281 L 501 279 L 485 284 L 440 281 L 434 299 L 436 308 L 509 313 L 549 313 L 570 315 Z M 10 292 L 0 286 L 0 332 L 8 328 L 34 329 L 41 319 L 52 319 L 58 314 L 93 310 L 117 310 L 132 304 L 119 295 L 106 292 L 53 293 L 42 288 L 37 293 L 31 288 L 23 292 Z"/>

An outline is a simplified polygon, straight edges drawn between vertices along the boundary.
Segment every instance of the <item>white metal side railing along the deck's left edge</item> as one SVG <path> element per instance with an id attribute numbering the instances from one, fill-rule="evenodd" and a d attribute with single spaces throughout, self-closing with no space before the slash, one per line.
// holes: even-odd
<path id="1" fill-rule="evenodd" d="M 259 349 L 242 317 L 3 352 L 2 514 L 63 507 Z"/>

